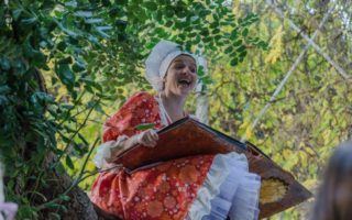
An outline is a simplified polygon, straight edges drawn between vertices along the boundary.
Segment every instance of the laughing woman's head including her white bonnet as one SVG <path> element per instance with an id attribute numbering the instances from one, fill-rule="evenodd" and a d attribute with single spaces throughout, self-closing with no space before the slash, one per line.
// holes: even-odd
<path id="1" fill-rule="evenodd" d="M 187 96 L 197 82 L 197 58 L 178 44 L 161 41 L 146 62 L 146 79 L 158 92 Z"/>

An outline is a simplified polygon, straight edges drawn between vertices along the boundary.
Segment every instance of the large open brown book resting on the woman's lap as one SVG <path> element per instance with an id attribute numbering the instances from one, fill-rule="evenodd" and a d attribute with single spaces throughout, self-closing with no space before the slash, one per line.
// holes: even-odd
<path id="1" fill-rule="evenodd" d="M 160 130 L 158 135 L 155 147 L 135 145 L 122 152 L 116 163 L 133 172 L 186 156 L 244 153 L 250 172 L 262 178 L 260 218 L 270 217 L 311 197 L 290 173 L 282 169 L 252 143 L 242 143 L 194 119 L 178 120 Z"/>

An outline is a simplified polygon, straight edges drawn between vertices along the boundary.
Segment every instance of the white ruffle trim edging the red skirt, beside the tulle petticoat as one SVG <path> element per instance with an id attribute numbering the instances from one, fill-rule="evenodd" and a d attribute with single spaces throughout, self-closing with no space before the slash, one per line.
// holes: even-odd
<path id="1" fill-rule="evenodd" d="M 210 200 L 220 193 L 220 186 L 230 174 L 228 161 L 243 160 L 238 153 L 218 154 L 213 158 L 204 185 L 198 189 L 197 197 L 188 210 L 187 220 L 199 220 L 211 211 Z M 229 207 L 230 208 L 230 207 Z"/>

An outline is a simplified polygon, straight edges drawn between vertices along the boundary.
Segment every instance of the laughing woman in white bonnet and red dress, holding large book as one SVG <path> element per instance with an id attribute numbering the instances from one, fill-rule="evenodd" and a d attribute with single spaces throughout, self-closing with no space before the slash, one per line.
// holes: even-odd
<path id="1" fill-rule="evenodd" d="M 162 41 L 146 59 L 146 79 L 157 96 L 139 92 L 106 123 L 96 164 L 113 164 L 135 144 L 156 145 L 160 130 L 187 116 L 184 106 L 197 81 L 197 62 L 175 43 Z M 154 130 L 139 131 L 141 123 Z M 91 200 L 121 219 L 256 219 L 260 180 L 248 172 L 244 155 L 198 155 L 127 174 L 98 176 Z"/>

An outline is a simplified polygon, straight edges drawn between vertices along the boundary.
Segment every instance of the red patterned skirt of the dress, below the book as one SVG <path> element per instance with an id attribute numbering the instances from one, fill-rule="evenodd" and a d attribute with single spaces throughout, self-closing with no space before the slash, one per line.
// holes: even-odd
<path id="1" fill-rule="evenodd" d="M 101 173 L 91 201 L 125 220 L 185 219 L 202 186 L 215 155 L 185 157 L 128 174 Z"/>

